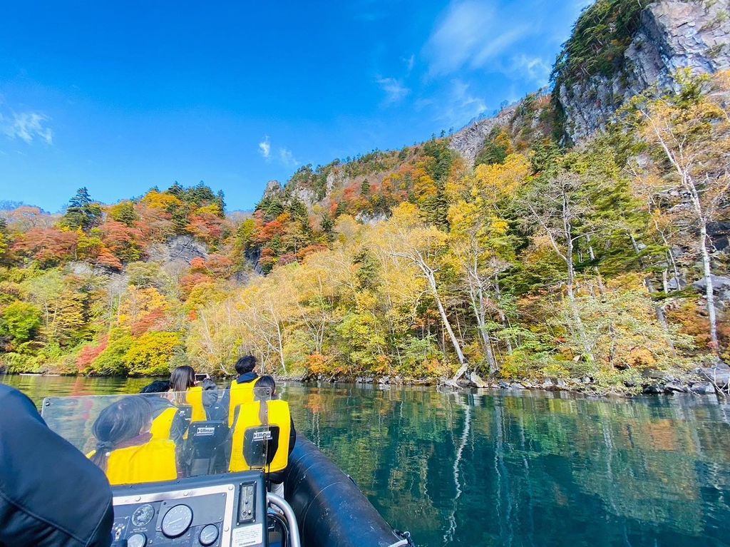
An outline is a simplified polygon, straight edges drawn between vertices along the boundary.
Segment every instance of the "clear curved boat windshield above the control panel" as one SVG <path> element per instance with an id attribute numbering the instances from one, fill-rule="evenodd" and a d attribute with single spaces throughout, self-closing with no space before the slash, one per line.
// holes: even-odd
<path id="1" fill-rule="evenodd" d="M 48 397 L 42 416 L 107 473 L 112 485 L 174 481 L 229 471 L 272 470 L 279 427 L 272 393 L 228 390 Z"/>

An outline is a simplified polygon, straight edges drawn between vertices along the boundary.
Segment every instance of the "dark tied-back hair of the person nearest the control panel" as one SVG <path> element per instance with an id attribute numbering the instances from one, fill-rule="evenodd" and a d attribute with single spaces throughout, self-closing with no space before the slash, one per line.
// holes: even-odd
<path id="1" fill-rule="evenodd" d="M 137 437 L 152 419 L 152 405 L 139 395 L 124 397 L 101 410 L 93 423 L 96 452 L 91 457 L 101 469 L 107 469 L 107 456 L 125 440 Z"/>

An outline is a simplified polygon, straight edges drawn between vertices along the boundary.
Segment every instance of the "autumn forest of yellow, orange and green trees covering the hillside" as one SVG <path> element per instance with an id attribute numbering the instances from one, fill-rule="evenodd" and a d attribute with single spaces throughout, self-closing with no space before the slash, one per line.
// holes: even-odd
<path id="1" fill-rule="evenodd" d="M 472 167 L 434 137 L 302 167 L 251 214 L 203 183 L 3 211 L 0 364 L 220 375 L 250 352 L 290 377 L 631 393 L 730 360 L 730 74 L 677 77 L 574 148 L 497 126 Z"/>

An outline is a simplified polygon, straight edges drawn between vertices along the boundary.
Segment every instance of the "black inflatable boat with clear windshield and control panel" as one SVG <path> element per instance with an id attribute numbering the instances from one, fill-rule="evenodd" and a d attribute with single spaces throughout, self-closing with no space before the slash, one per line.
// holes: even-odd
<path id="1" fill-rule="evenodd" d="M 275 451 L 269 443 L 278 435 L 270 424 L 245 437 L 255 439 L 244 448 L 250 465 L 229 471 L 236 424 L 229 430 L 225 419 L 192 421 L 185 394 L 48 397 L 42 416 L 51 429 L 93 457 L 99 446 L 94 424 L 102 411 L 116 412 L 131 399 L 145 399 L 158 410 L 140 430 L 145 444 L 104 453 L 114 497 L 112 547 L 413 544 L 410 534 L 393 529 L 356 483 L 301 435 L 279 475 L 283 497 L 267 491 L 267 479 L 274 476 L 267 467 Z M 168 457 L 172 473 L 158 474 Z"/>

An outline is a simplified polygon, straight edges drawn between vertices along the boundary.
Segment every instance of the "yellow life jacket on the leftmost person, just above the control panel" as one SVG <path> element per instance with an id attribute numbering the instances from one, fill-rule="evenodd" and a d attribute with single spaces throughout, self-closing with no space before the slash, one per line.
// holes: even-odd
<path id="1" fill-rule="evenodd" d="M 87 456 L 93 457 L 96 451 Z M 107 478 L 112 486 L 118 484 L 174 481 L 177 478 L 175 443 L 153 438 L 139 446 L 118 448 L 107 458 Z"/>

